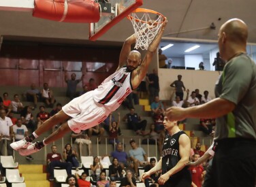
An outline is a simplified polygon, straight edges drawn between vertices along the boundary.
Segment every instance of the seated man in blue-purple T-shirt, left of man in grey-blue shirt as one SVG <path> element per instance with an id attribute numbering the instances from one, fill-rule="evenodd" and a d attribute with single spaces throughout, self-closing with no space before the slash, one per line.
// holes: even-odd
<path id="1" fill-rule="evenodd" d="M 128 166 L 128 155 L 126 152 L 123 151 L 122 143 L 118 143 L 116 145 L 116 150 L 111 152 L 110 156 L 113 158 L 117 158 L 119 165 L 124 169 Z"/>

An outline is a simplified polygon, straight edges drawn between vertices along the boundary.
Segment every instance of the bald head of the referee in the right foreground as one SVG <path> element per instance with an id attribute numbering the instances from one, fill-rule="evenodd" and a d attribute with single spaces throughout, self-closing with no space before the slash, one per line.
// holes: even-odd
<path id="1" fill-rule="evenodd" d="M 231 41 L 246 44 L 248 37 L 248 27 L 242 20 L 234 18 L 225 22 L 220 29 L 220 34 L 225 33 Z"/>

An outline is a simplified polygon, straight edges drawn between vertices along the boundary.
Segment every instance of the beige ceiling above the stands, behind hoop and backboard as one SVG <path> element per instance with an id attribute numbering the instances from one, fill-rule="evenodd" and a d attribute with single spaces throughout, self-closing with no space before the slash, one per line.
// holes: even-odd
<path id="1" fill-rule="evenodd" d="M 217 40 L 221 24 L 230 18 L 244 20 L 249 26 L 249 42 L 256 43 L 256 20 L 253 16 L 255 0 L 144 0 L 142 7 L 161 12 L 168 19 L 163 35 L 165 39 L 161 46 L 169 42 L 167 41 L 169 37 Z M 0 35 L 3 36 L 3 42 L 5 39 L 12 39 L 121 46 L 133 33 L 131 23 L 125 18 L 98 41 L 89 41 L 89 24 L 42 20 L 33 18 L 31 14 L 31 12 L 0 11 Z M 210 28 L 212 22 L 215 29 Z M 174 48 L 170 49 L 174 50 Z M 181 50 L 183 50 L 182 46 L 180 46 Z"/>

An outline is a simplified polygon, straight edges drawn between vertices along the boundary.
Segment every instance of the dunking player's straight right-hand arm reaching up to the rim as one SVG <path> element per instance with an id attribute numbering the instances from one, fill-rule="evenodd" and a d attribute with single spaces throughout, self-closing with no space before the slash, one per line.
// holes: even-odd
<path id="1" fill-rule="evenodd" d="M 146 72 L 148 71 L 148 65 L 150 64 L 153 58 L 153 55 L 155 54 L 160 44 L 161 37 L 163 35 L 163 31 L 165 30 L 166 24 L 167 24 L 167 18 L 165 18 L 165 21 L 163 22 L 161 29 L 159 30 L 155 39 L 151 42 L 150 46 L 148 47 L 148 51 L 146 52 L 146 55 L 144 56 L 142 63 L 137 69 L 135 69 L 135 73 L 134 73 L 135 76 L 132 80 L 133 88 L 137 88 L 140 82 L 142 82 L 142 80 L 146 76 Z"/>

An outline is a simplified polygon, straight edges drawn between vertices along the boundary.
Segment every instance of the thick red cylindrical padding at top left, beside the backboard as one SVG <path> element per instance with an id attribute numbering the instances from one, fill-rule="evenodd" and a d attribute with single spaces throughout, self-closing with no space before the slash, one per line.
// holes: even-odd
<path id="1" fill-rule="evenodd" d="M 66 4 L 65 0 L 35 0 L 33 16 L 62 22 L 98 22 L 99 3 L 92 0 L 67 0 Z"/>

